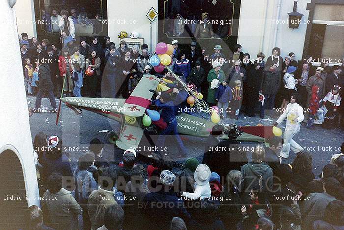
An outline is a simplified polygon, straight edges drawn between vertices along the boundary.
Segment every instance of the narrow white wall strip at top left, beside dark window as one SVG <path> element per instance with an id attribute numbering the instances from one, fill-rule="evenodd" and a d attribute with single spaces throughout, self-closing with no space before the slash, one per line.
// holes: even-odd
<path id="1" fill-rule="evenodd" d="M 36 25 L 33 24 L 35 18 L 33 0 L 17 0 L 13 8 L 17 15 L 19 35 L 21 33 L 28 33 L 29 38 L 36 37 Z"/>

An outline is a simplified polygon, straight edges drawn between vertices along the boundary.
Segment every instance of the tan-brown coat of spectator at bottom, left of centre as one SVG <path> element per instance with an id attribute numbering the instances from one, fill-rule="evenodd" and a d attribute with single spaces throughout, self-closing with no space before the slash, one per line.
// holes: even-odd
<path id="1" fill-rule="evenodd" d="M 114 199 L 115 192 L 102 189 L 93 190 L 88 198 L 88 214 L 92 229 L 97 229 L 104 224 L 106 210 L 112 205 L 117 205 Z"/>

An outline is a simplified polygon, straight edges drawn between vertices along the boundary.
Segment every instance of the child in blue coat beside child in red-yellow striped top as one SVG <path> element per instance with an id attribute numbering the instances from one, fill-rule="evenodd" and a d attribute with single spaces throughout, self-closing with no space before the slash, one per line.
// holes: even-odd
<path id="1" fill-rule="evenodd" d="M 215 99 L 217 101 L 217 107 L 219 107 L 220 117 L 226 118 L 228 104 L 232 100 L 232 91 L 226 81 L 222 81 L 222 84 L 216 89 Z"/>

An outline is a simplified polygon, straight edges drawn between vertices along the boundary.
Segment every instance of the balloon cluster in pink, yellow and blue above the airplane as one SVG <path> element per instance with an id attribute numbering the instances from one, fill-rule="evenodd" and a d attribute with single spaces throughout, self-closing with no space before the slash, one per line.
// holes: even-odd
<path id="1" fill-rule="evenodd" d="M 161 73 L 165 66 L 172 64 L 173 60 L 170 55 L 173 54 L 173 51 L 174 48 L 170 44 L 166 45 L 164 42 L 160 42 L 156 45 L 155 55 L 149 59 L 149 62 L 157 73 Z"/>

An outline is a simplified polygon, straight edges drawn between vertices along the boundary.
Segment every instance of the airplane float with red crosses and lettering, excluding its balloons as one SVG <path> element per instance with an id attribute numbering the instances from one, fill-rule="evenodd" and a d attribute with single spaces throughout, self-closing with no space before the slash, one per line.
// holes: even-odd
<path id="1" fill-rule="evenodd" d="M 150 90 L 156 91 L 161 86 L 158 77 L 143 75 L 128 99 L 65 97 L 61 101 L 77 114 L 81 114 L 81 111 L 85 109 L 120 122 L 119 135 L 111 132 L 108 139 L 120 149 L 125 150 L 138 147 L 145 130 L 143 119 L 147 117 L 148 111 L 152 111 L 148 109 L 150 106 L 148 99 L 153 97 L 154 92 Z M 201 101 L 206 104 L 203 100 Z M 59 111 L 57 121 L 58 115 Z M 184 135 L 207 137 L 212 131 L 212 127 L 216 125 L 210 119 L 184 112 L 178 114 L 176 118 L 178 132 Z M 221 124 L 221 122 L 219 123 Z M 228 126 L 225 125 L 225 127 Z M 242 134 L 237 138 L 238 141 L 261 143 L 265 141 L 265 138 L 273 135 L 272 126 L 241 126 L 239 130 L 242 131 Z"/>

